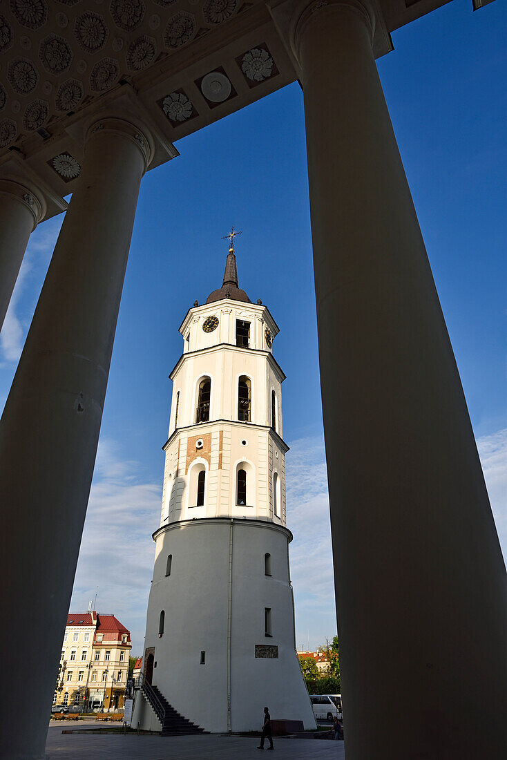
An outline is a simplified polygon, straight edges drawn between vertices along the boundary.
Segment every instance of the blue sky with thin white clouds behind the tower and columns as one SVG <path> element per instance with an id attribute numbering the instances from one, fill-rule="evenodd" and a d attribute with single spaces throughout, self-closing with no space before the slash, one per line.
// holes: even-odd
<path id="1" fill-rule="evenodd" d="M 378 62 L 507 553 L 507 8 L 455 0 Z M 325 107 L 325 106 L 324 106 Z M 298 644 L 334 635 L 303 93 L 295 83 L 176 144 L 141 185 L 72 609 L 99 584 L 141 652 L 180 321 L 220 287 L 231 224 L 240 286 L 280 326 Z M 0 336 L 3 407 L 62 217 L 38 227 Z M 337 325 L 337 329 L 339 326 Z M 116 526 L 112 530 L 110 526 Z"/>

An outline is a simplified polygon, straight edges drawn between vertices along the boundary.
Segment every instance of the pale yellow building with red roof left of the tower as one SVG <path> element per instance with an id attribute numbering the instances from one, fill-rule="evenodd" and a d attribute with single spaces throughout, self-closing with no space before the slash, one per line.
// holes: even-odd
<path id="1" fill-rule="evenodd" d="M 70 613 L 53 705 L 114 712 L 124 704 L 130 632 L 114 615 Z"/>

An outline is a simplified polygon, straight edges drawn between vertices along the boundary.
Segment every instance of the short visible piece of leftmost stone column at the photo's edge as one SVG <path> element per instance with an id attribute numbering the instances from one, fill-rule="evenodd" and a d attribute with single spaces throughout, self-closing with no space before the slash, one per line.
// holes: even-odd
<path id="1" fill-rule="evenodd" d="M 44 203 L 12 179 L 0 178 L 0 330 L 30 234 L 43 217 Z"/>

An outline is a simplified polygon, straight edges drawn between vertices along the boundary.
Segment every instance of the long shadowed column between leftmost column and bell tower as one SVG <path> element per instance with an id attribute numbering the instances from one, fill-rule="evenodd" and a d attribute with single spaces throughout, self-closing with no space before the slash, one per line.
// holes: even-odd
<path id="1" fill-rule="evenodd" d="M 43 758 L 151 138 L 119 118 L 87 134 L 0 422 L 2 757 Z M 27 725 L 27 708 L 30 711 Z"/>

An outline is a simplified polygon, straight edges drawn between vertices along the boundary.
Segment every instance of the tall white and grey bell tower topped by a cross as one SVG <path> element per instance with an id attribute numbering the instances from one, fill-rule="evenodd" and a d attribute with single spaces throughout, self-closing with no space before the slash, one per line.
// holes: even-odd
<path id="1" fill-rule="evenodd" d="M 150 657 L 156 688 L 205 730 L 254 730 L 267 700 L 273 719 L 313 727 L 294 634 L 278 327 L 239 288 L 238 234 L 222 287 L 179 328 L 144 668 Z M 142 690 L 135 720 L 157 727 Z"/>

